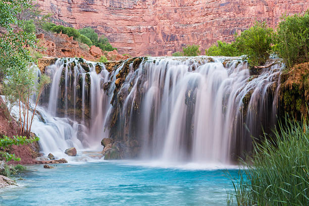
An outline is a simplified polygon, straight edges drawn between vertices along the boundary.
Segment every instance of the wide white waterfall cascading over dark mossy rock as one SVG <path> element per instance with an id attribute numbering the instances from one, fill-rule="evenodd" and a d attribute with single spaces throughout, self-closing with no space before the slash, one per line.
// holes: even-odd
<path id="1" fill-rule="evenodd" d="M 101 139 L 112 137 L 134 151 L 129 158 L 230 163 L 250 151 L 250 135 L 275 125 L 280 68 L 250 75 L 241 58 L 195 57 L 131 59 L 108 70 L 58 59 L 45 71 L 52 84 L 42 107 L 50 117 L 39 109 L 53 122 L 33 131 L 45 152 L 99 149 Z"/>

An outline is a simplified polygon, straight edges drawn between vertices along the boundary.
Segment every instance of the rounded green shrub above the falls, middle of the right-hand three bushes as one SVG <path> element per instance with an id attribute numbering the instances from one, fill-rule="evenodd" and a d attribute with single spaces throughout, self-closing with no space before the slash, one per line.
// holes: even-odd
<path id="1" fill-rule="evenodd" d="M 236 34 L 237 35 L 237 34 Z M 255 22 L 248 30 L 236 37 L 237 49 L 247 55 L 250 66 L 264 65 L 272 52 L 274 30 L 266 22 Z"/>

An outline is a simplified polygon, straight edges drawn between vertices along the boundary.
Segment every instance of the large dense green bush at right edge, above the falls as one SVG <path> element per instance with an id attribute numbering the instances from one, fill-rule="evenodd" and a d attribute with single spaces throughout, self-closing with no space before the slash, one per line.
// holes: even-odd
<path id="1" fill-rule="evenodd" d="M 309 61 L 309 10 L 283 16 L 277 29 L 275 50 L 288 68 Z"/>

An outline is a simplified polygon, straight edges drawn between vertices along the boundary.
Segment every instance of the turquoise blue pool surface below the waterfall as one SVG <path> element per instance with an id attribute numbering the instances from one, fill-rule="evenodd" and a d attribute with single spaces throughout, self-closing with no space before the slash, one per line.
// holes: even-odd
<path id="1" fill-rule="evenodd" d="M 0 205 L 226 205 L 226 172 L 165 168 L 136 162 L 28 166 L 18 187 L 0 190 Z"/>

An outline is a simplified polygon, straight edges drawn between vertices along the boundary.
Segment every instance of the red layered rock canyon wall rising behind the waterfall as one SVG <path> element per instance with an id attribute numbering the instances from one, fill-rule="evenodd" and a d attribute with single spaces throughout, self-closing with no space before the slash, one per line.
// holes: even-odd
<path id="1" fill-rule="evenodd" d="M 282 14 L 304 12 L 307 0 L 37 0 L 59 24 L 92 27 L 121 53 L 165 56 L 186 44 L 201 50 L 255 20 L 275 27 Z"/>

